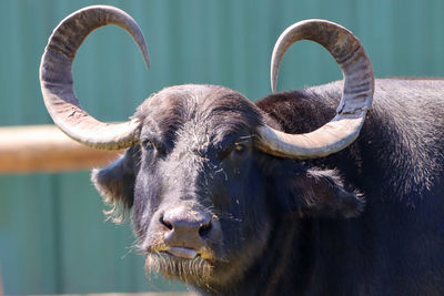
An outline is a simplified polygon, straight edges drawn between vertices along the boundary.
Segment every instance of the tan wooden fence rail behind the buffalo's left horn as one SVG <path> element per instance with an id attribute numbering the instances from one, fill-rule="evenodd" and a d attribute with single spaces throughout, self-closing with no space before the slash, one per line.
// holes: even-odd
<path id="1" fill-rule="evenodd" d="M 87 147 L 54 125 L 0 127 L 0 173 L 90 170 L 103 166 L 123 151 Z"/>

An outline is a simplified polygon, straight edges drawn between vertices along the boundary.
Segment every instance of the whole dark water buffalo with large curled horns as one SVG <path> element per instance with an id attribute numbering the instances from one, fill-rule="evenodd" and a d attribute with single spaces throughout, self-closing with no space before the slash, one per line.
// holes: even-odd
<path id="1" fill-rule="evenodd" d="M 374 80 L 350 31 L 310 20 L 278 40 L 273 92 L 301 39 L 326 48 L 344 81 L 255 104 L 223 86 L 171 86 L 128 122 L 102 123 L 80 108 L 71 65 L 107 24 L 149 64 L 130 16 L 90 7 L 50 37 L 41 89 L 69 136 L 128 149 L 92 182 L 111 215 L 131 213 L 147 271 L 203 294 L 444 295 L 443 80 Z"/>

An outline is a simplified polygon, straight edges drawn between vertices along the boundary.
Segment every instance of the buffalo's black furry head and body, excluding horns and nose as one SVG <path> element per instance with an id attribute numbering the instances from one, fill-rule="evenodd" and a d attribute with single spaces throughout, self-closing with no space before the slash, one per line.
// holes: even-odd
<path id="1" fill-rule="evenodd" d="M 204 294 L 443 295 L 444 81 L 376 80 L 359 139 L 327 157 L 255 147 L 263 123 L 323 125 L 341 91 L 334 82 L 253 105 L 221 86 L 165 89 L 134 115 L 141 145 L 92 180 L 131 208 L 148 269 Z M 215 221 L 202 258 L 159 252 L 159 221 L 176 206 Z"/>

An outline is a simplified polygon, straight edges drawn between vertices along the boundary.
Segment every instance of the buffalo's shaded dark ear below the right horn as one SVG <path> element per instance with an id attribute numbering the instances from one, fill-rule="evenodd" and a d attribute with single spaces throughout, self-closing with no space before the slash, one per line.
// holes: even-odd
<path id="1" fill-rule="evenodd" d="M 302 216 L 354 217 L 365 207 L 364 196 L 345 188 L 334 170 L 305 171 L 305 175 L 286 178 L 284 206 Z"/>

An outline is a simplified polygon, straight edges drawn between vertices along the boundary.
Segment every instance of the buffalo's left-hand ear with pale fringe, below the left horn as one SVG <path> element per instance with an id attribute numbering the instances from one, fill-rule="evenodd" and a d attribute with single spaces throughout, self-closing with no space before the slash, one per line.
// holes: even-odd
<path id="1" fill-rule="evenodd" d="M 104 202 L 111 205 L 105 214 L 113 222 L 120 223 L 127 210 L 131 208 L 134 201 L 134 182 L 139 155 L 138 147 L 130 147 L 113 163 L 103 169 L 94 169 L 91 181 L 102 195 Z"/>

